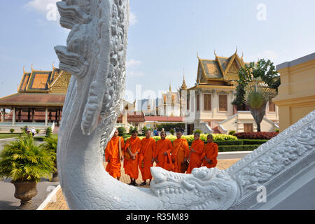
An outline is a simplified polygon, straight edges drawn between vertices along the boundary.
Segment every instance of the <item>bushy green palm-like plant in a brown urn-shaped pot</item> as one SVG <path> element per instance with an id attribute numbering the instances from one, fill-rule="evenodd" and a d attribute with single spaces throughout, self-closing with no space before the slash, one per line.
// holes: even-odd
<path id="1" fill-rule="evenodd" d="M 52 151 L 36 146 L 30 134 L 4 145 L 0 152 L 0 179 L 12 179 L 14 196 L 21 200 L 19 209 L 35 209 L 31 199 L 37 195 L 36 184 L 41 178 L 50 179 L 55 157 Z"/>

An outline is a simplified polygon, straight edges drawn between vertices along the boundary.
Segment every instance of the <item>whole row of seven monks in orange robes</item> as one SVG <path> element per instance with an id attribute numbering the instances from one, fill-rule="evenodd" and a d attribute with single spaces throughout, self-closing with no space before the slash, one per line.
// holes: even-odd
<path id="1" fill-rule="evenodd" d="M 130 176 L 130 185 L 138 186 L 136 180 L 139 176 L 139 169 L 145 186 L 147 180 L 152 181 L 151 167 L 155 162 L 157 167 L 162 167 L 170 172 L 191 174 L 194 168 L 216 167 L 218 156 L 218 145 L 213 142 L 211 134 L 207 136 L 207 144 L 200 139 L 200 134 L 195 132 L 194 141 L 189 148 L 188 141 L 182 139 L 183 132 L 176 132 L 176 140 L 167 139 L 166 132 L 161 132 L 161 139 L 155 141 L 151 137 L 151 131 L 146 131 L 146 137 L 139 139 L 137 130 L 132 131 L 132 137 L 124 141 L 118 136 L 119 132 L 106 146 L 105 160 L 108 162 L 106 172 L 113 178 L 120 179 L 121 162 L 125 169 L 125 174 Z"/>

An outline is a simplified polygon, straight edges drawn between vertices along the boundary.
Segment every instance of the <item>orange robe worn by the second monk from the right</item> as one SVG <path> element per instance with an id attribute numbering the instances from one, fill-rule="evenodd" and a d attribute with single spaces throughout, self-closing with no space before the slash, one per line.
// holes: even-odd
<path id="1" fill-rule="evenodd" d="M 196 152 L 193 153 L 191 149 L 194 149 Z M 190 147 L 190 162 L 187 169 L 187 174 L 191 174 L 194 168 L 199 168 L 202 166 L 202 153 L 204 152 L 204 141 L 195 140 Z"/>

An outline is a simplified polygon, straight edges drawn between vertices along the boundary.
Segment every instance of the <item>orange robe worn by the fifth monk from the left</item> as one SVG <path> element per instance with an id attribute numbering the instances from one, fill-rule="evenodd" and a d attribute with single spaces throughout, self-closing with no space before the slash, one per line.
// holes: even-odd
<path id="1" fill-rule="evenodd" d="M 185 158 L 189 156 L 189 145 L 186 139 L 176 139 L 173 141 L 174 153 L 172 160 L 175 160 L 174 172 L 181 173 L 181 167 Z"/>

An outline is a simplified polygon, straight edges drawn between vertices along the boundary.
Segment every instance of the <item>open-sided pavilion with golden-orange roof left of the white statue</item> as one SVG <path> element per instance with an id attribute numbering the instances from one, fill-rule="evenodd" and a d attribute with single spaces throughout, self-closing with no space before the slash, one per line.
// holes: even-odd
<path id="1" fill-rule="evenodd" d="M 0 131 L 8 128 L 19 131 L 25 125 L 38 128 L 58 125 L 70 78 L 70 73 L 53 65 L 52 71 L 24 70 L 18 93 L 0 98 Z"/>

